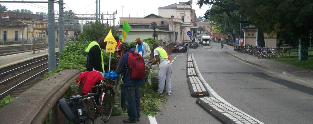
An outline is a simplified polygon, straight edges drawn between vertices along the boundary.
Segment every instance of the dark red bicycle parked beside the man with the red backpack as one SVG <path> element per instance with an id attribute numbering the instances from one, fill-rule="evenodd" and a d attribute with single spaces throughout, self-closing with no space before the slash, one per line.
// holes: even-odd
<path id="1" fill-rule="evenodd" d="M 109 121 L 112 114 L 115 95 L 113 87 L 117 86 L 118 80 L 111 80 L 109 77 L 105 77 L 105 79 L 102 79 L 99 83 L 100 84 L 93 86 L 93 88 L 101 87 L 98 106 L 95 101 L 87 101 L 85 105 L 88 107 L 87 111 L 93 119 L 95 119 L 99 113 L 101 121 L 106 123 Z M 96 110 L 93 108 L 96 108 Z"/>

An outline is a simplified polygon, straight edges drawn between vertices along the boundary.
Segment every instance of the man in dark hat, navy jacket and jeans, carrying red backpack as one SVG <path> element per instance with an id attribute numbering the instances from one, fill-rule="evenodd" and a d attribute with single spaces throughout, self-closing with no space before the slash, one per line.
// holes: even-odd
<path id="1" fill-rule="evenodd" d="M 128 69 L 130 69 L 129 62 L 140 62 L 137 63 L 136 67 L 144 66 L 145 63 L 142 60 L 143 58 L 137 54 L 137 56 L 141 57 L 141 61 L 128 61 L 129 59 L 133 60 L 131 57 L 134 57 L 134 50 L 130 48 L 127 42 L 122 43 L 119 46 L 119 52 L 122 53 L 122 56 L 119 59 L 119 63 L 116 69 L 117 74 L 122 74 L 122 80 L 124 82 L 126 100 L 127 100 L 127 115 L 128 119 L 123 120 L 124 123 L 136 123 L 140 121 L 140 97 L 141 97 L 141 85 L 144 84 L 143 77 L 145 76 L 145 72 L 141 72 L 131 68 L 131 75 L 128 73 Z M 138 60 L 138 59 L 137 59 Z M 144 70 L 143 70 L 144 71 Z M 142 73 L 143 77 L 134 78 L 134 72 Z M 138 74 L 138 73 L 136 73 Z"/>

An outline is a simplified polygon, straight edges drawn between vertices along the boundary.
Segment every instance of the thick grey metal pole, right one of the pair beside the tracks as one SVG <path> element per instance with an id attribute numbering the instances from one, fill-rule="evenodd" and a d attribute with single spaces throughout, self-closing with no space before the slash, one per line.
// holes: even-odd
<path id="1" fill-rule="evenodd" d="M 62 52 L 64 48 L 64 7 L 63 0 L 59 1 L 59 51 Z"/>

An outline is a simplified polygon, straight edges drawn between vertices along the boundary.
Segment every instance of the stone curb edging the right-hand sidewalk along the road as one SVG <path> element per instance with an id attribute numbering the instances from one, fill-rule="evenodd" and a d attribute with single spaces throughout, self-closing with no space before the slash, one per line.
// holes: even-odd
<path id="1" fill-rule="evenodd" d="M 265 69 L 265 70 L 268 70 L 268 71 L 271 71 L 271 72 L 274 72 L 274 73 L 277 73 L 277 74 L 281 74 L 281 75 L 284 75 L 284 76 L 291 76 L 291 77 L 295 77 L 291 74 L 289 74 L 288 72 L 284 72 L 284 71 L 281 71 L 281 70 L 277 70 L 277 69 L 273 69 L 273 68 L 270 68 L 270 67 L 266 67 L 266 66 L 263 66 L 263 65 L 260 65 L 260 64 L 257 64 L 257 63 L 254 63 L 254 62 L 250 62 L 244 58 L 241 58 L 241 57 L 238 57 L 234 54 L 231 54 L 230 52 L 227 52 L 228 50 L 226 50 L 226 53 L 230 54 L 231 56 L 235 57 L 235 58 L 238 58 L 239 60 L 243 61 L 243 62 L 246 62 L 246 63 L 249 63 L 249 64 L 252 64 L 252 65 L 255 65 L 255 66 L 258 66 L 258 67 L 261 67 L 262 69 Z"/>

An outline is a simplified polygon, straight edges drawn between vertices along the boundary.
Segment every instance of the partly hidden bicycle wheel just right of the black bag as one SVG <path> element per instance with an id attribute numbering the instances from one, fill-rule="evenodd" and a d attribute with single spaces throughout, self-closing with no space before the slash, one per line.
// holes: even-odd
<path id="1" fill-rule="evenodd" d="M 93 124 L 93 120 L 96 119 L 96 103 L 94 101 L 93 98 L 90 99 L 90 101 L 88 100 L 84 100 L 87 112 L 89 112 L 90 117 L 92 119 L 88 119 L 87 121 L 85 121 L 85 124 Z"/>

